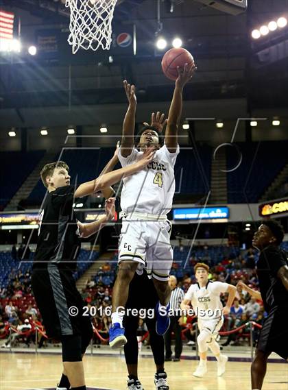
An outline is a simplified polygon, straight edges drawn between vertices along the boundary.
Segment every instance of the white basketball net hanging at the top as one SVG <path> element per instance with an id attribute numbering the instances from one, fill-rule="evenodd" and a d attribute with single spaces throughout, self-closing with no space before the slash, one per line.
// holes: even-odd
<path id="1" fill-rule="evenodd" d="M 112 19 L 117 0 L 66 0 L 70 8 L 69 44 L 72 52 L 110 49 Z"/>

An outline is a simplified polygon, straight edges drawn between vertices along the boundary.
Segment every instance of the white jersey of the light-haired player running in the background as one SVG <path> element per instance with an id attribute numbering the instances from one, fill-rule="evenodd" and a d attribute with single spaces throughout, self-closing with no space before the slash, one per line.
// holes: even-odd
<path id="1" fill-rule="evenodd" d="M 208 281 L 205 287 L 198 283 L 191 284 L 184 300 L 191 301 L 195 315 L 198 319 L 217 319 L 221 317 L 223 305 L 220 294 L 226 293 L 229 284 Z"/>

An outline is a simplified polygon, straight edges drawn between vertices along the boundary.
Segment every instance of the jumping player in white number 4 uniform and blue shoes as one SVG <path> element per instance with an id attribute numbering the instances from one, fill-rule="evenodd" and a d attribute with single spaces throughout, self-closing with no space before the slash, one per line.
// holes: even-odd
<path id="1" fill-rule="evenodd" d="M 194 63 L 191 66 L 185 64 L 181 71 L 178 69 L 179 77 L 169 109 L 164 145 L 160 131 L 162 129 L 154 126 L 152 117 L 152 125 L 146 124 L 137 134 L 138 149 L 134 147 L 136 95 L 134 86 L 124 81 L 129 106 L 123 122 L 119 161 L 122 167 L 132 164 L 141 158 L 147 147 L 154 147 L 156 153 L 143 174 L 133 175 L 132 180 L 123 179 L 119 272 L 112 293 L 112 326 L 109 340 L 112 348 L 121 347 L 127 342 L 122 325 L 123 309 L 128 299 L 129 284 L 136 269 L 141 272 L 146 267 L 158 293 L 160 302 L 156 306 L 156 331 L 158 334 L 165 334 L 169 328 L 170 320 L 165 312 L 171 295 L 168 279 L 173 250 L 170 244 L 171 225 L 167 220 L 167 213 L 171 210 L 175 192 L 174 165 L 179 153 L 177 135 L 182 114 L 182 91 L 184 85 L 191 80 L 195 69 Z M 157 113 L 155 118 L 158 124 L 161 122 L 159 116 Z"/>

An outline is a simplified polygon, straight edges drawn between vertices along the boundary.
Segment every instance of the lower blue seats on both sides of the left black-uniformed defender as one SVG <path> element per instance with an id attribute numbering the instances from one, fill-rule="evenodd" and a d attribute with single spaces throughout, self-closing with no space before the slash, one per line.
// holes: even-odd
<path id="1" fill-rule="evenodd" d="M 79 279 L 83 273 L 91 267 L 92 263 L 99 257 L 99 252 L 91 252 L 81 249 L 77 260 L 77 271 L 74 273 L 75 279 Z M 10 276 L 14 273 L 22 271 L 32 271 L 33 254 L 30 255 L 30 260 L 19 261 L 13 260 L 11 252 L 0 252 L 0 287 L 7 287 L 10 282 Z"/>

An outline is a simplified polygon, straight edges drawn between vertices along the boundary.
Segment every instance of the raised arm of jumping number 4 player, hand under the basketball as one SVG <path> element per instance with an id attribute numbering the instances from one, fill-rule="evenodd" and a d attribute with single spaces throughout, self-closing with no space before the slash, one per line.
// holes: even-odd
<path id="1" fill-rule="evenodd" d="M 188 66 L 185 64 L 184 69 L 178 67 L 178 79 L 175 83 L 175 89 L 171 106 L 168 114 L 168 122 L 165 133 L 165 144 L 170 153 L 176 153 L 178 145 L 178 126 L 182 115 L 183 88 L 191 80 L 197 67 L 194 64 Z"/>

